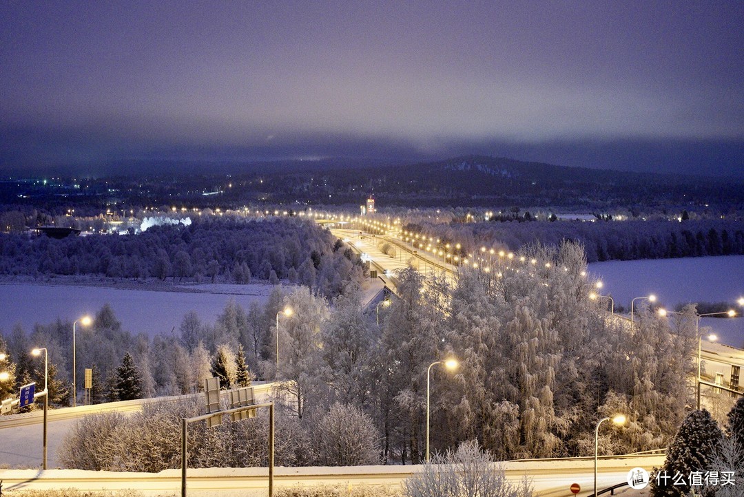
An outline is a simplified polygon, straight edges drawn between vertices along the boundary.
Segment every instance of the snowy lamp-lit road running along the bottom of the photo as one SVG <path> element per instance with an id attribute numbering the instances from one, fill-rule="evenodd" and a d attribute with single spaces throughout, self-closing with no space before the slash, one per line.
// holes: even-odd
<path id="1" fill-rule="evenodd" d="M 634 467 L 651 470 L 664 462 L 664 456 L 601 458 L 598 487 L 609 487 L 626 481 Z M 573 483 L 581 486 L 580 496 L 587 496 L 593 486 L 592 458 L 563 458 L 503 463 L 507 480 L 514 484 L 530 479 L 537 495 L 569 496 Z M 400 490 L 405 478 L 410 478 L 420 466 L 362 467 L 279 467 L 275 470 L 277 489 L 300 485 L 338 485 L 344 489 L 359 485 Z M 210 468 L 189 470 L 188 494 L 191 496 L 265 496 L 268 486 L 266 468 Z M 180 471 L 158 473 L 120 473 L 82 470 L 0 470 L 3 490 L 48 490 L 74 487 L 86 490 L 135 489 L 144 496 L 175 496 L 180 491 Z M 391 492 L 392 493 L 392 492 Z M 12 494 L 11 494 L 12 495 Z"/>

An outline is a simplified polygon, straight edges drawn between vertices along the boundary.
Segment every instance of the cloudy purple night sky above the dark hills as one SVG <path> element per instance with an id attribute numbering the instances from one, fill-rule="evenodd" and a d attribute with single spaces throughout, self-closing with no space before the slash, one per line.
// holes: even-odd
<path id="1" fill-rule="evenodd" d="M 429 160 L 744 176 L 742 1 L 0 2 L 0 167 Z"/>

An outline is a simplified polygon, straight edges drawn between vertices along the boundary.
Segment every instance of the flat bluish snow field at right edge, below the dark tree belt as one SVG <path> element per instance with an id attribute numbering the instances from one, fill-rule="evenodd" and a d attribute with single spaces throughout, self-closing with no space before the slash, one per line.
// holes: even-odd
<path id="1" fill-rule="evenodd" d="M 744 256 L 594 262 L 589 272 L 604 283 L 604 295 L 626 308 L 631 299 L 653 293 L 670 309 L 687 302 L 731 302 L 737 313 L 744 312 L 737 305 L 744 296 Z M 702 318 L 700 325 L 711 327 L 727 345 L 744 346 L 741 317 Z"/>

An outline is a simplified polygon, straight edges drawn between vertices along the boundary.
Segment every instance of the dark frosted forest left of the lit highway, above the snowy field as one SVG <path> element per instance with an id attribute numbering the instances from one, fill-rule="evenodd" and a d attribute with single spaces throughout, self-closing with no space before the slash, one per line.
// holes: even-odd
<path id="1" fill-rule="evenodd" d="M 55 240 L 0 234 L 0 273 L 240 284 L 251 277 L 289 279 L 333 296 L 363 270 L 350 248 L 310 221 L 205 216 L 190 226 L 156 226 L 131 235 Z"/>

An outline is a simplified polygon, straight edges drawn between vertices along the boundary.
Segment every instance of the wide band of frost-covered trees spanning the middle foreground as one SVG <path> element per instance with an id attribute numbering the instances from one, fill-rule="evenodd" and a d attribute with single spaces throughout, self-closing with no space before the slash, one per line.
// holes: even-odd
<path id="1" fill-rule="evenodd" d="M 122 398 L 126 377 L 138 377 L 138 394 L 151 396 L 196 392 L 213 375 L 224 387 L 245 383 L 247 369 L 253 378 L 281 380 L 283 415 L 310 430 L 310 439 L 338 403 L 365 415 L 379 461 L 409 464 L 424 455 L 427 368 L 454 356 L 457 371 L 432 368 L 432 450 L 476 439 L 498 459 L 588 455 L 594 423 L 614 412 L 629 423 L 600 436 L 603 453 L 666 446 L 692 400 L 694 307 L 675 321 L 641 309 L 630 330 L 589 299 L 594 282 L 580 245 L 523 250 L 534 264 L 502 276 L 462 270 L 456 288 L 403 270 L 400 299 L 380 310 L 379 327 L 362 312 L 353 284 L 330 301 L 307 287 L 286 294 L 278 286 L 263 307 L 231 303 L 214 325 L 189 314 L 178 337 L 152 341 L 127 334 L 103 308 L 79 331 L 86 335 L 78 341 L 78 378 L 97 365 L 100 389 L 92 397 L 100 401 Z M 287 305 L 294 312 L 278 320 L 277 377 L 276 314 Z M 7 336 L 17 382 L 38 380 L 39 361 L 23 351 L 47 345 L 60 382 L 52 397 L 61 404 L 68 401 L 70 324 Z M 303 464 L 320 464 L 313 461 Z"/>

